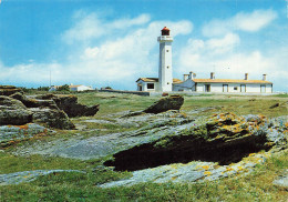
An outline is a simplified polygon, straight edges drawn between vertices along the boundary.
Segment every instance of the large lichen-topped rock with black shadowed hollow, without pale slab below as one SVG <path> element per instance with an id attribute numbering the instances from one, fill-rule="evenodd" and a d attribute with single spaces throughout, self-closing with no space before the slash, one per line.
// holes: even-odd
<path id="1" fill-rule="evenodd" d="M 287 147 L 282 132 L 265 117 L 220 113 L 200 121 L 203 123 L 195 122 L 195 125 L 175 131 L 174 134 L 121 151 L 105 165 L 115 166 L 120 171 L 197 160 L 227 165 L 239 162 L 249 153 L 269 150 L 276 143 Z"/>

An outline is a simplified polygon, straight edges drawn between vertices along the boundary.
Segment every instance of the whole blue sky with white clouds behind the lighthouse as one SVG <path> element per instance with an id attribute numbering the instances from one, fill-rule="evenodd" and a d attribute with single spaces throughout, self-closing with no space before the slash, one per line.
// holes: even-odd
<path id="1" fill-rule="evenodd" d="M 288 92 L 288 0 L 1 0 L 0 84 L 136 90 L 158 77 L 164 27 L 174 78 L 266 73 Z"/>

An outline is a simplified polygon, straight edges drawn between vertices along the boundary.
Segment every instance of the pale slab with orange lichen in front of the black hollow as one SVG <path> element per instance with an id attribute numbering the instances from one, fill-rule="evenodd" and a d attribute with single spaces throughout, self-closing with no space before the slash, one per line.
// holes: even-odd
<path id="1" fill-rule="evenodd" d="M 264 163 L 270 154 L 250 154 L 239 163 L 219 166 L 214 162 L 193 161 L 187 164 L 175 163 L 154 169 L 134 171 L 130 179 L 100 184 L 100 188 L 131 186 L 143 182 L 187 183 L 213 181 L 236 174 L 249 173 L 256 164 Z"/>

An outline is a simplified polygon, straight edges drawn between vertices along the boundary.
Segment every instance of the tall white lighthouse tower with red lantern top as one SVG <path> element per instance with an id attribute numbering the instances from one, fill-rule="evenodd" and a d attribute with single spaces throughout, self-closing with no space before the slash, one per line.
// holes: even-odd
<path id="1" fill-rule="evenodd" d="M 158 89 L 160 91 L 172 91 L 173 75 L 172 75 L 172 42 L 173 37 L 169 36 L 169 29 L 163 28 L 161 30 L 160 42 L 160 69 L 158 69 Z"/>

